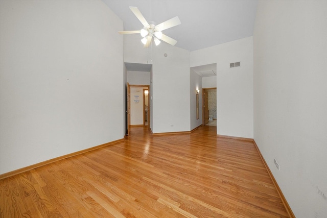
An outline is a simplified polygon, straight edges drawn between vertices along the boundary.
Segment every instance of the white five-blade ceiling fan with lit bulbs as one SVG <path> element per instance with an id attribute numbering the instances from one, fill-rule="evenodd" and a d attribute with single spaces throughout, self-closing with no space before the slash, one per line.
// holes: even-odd
<path id="1" fill-rule="evenodd" d="M 177 25 L 180 25 L 180 20 L 176 16 L 174 18 L 171 18 L 165 22 L 159 23 L 158 25 L 155 25 L 154 22 L 151 21 L 149 24 L 147 20 L 142 15 L 141 11 L 138 10 L 137 7 L 129 7 L 131 11 L 134 13 L 134 15 L 137 17 L 139 21 L 143 24 L 142 30 L 132 30 L 132 31 L 119 31 L 120 34 L 135 34 L 140 33 L 142 37 L 144 37 L 141 41 L 144 44 L 144 47 L 149 47 L 152 41 L 155 43 L 155 45 L 160 44 L 160 40 L 165 41 L 171 45 L 175 45 L 177 41 L 173 38 L 170 38 L 169 36 L 162 34 L 161 31 L 166 30 L 171 27 L 175 27 Z"/>

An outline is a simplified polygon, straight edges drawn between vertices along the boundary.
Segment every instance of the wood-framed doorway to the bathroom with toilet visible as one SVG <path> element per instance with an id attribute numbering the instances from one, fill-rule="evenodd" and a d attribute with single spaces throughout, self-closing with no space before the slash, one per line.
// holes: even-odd
<path id="1" fill-rule="evenodd" d="M 217 126 L 217 88 L 203 88 L 203 126 Z"/>

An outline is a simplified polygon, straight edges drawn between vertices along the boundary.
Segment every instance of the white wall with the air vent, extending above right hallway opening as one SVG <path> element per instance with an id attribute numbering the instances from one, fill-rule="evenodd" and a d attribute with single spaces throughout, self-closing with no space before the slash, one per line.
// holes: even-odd
<path id="1" fill-rule="evenodd" d="M 217 134 L 253 138 L 252 54 L 252 37 L 191 52 L 191 67 L 217 63 Z"/>

